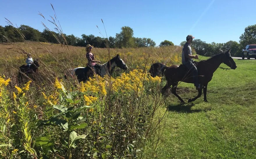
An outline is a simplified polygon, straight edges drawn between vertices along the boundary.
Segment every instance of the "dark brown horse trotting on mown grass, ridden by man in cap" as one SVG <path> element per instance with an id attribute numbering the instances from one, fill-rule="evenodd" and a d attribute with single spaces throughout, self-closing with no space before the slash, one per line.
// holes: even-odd
<path id="1" fill-rule="evenodd" d="M 217 70 L 217 68 L 221 65 L 221 63 L 225 63 L 231 69 L 236 69 L 237 65 L 232 59 L 230 55 L 230 50 L 225 53 L 221 53 L 215 55 L 207 60 L 202 60 L 197 63 L 198 69 L 198 79 L 200 84 L 202 84 L 204 89 L 204 101 L 208 102 L 206 99 L 207 85 L 211 81 L 213 73 Z M 166 89 L 168 89 L 172 85 L 172 93 L 179 98 L 181 102 L 184 100 L 176 93 L 177 85 L 179 81 L 186 83 L 193 83 L 193 77 L 191 71 L 181 65 L 173 65 L 166 68 L 164 73 L 166 77 L 166 85 L 162 89 L 162 94 L 165 93 Z M 192 102 L 199 98 L 202 95 L 202 89 L 198 89 L 198 96 L 193 99 L 189 99 L 189 102 Z"/>

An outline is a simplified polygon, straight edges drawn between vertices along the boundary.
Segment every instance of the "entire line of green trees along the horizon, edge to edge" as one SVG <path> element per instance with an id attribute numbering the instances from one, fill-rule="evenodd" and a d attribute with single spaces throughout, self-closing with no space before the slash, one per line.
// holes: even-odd
<path id="1" fill-rule="evenodd" d="M 108 42 L 111 48 L 122 48 L 122 47 L 155 47 L 156 43 L 151 38 L 135 38 L 134 31 L 129 26 L 123 26 L 120 33 L 116 33 L 115 37 L 110 36 L 109 38 L 102 38 L 94 35 L 82 34 L 81 38 L 71 35 L 61 35 L 54 31 L 44 29 L 42 32 L 38 31 L 27 25 L 20 25 L 18 28 L 13 26 L 0 26 L 0 42 L 5 42 L 3 36 L 7 37 L 11 42 L 21 42 L 24 39 L 17 32 L 24 35 L 26 40 L 40 41 L 49 43 L 64 43 L 63 36 L 67 41 L 67 45 L 85 47 L 87 44 L 94 45 L 94 47 L 104 48 L 106 42 Z M 56 37 L 60 40 L 56 39 Z M 183 46 L 186 41 L 180 43 Z M 195 49 L 197 54 L 204 56 L 211 56 L 218 54 L 221 50 L 231 49 L 232 56 L 241 56 L 242 49 L 249 44 L 256 44 L 256 24 L 245 28 L 244 33 L 240 36 L 239 43 L 236 41 L 228 41 L 226 43 L 206 43 L 200 39 L 195 39 L 192 42 L 192 47 Z M 161 46 L 174 45 L 169 40 L 164 40 L 160 43 Z"/>

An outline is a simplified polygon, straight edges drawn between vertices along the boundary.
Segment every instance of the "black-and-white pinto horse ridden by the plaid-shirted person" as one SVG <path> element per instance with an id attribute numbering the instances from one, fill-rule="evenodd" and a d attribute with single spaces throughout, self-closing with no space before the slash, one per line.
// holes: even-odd
<path id="1" fill-rule="evenodd" d="M 127 70 L 127 66 L 124 63 L 124 61 L 120 58 L 120 55 L 117 54 L 115 57 L 113 57 L 110 61 L 104 63 L 100 68 L 99 71 L 96 71 L 98 75 L 101 77 L 104 77 L 106 74 L 112 74 L 115 67 L 119 67 L 123 70 Z M 74 72 L 72 70 L 69 70 L 71 72 L 71 75 L 74 75 Z M 86 67 L 77 67 L 74 69 L 75 75 L 77 76 L 77 79 L 79 82 L 87 81 L 89 77 L 92 77 L 94 75 L 93 69 L 90 68 L 90 66 Z M 65 76 L 66 78 L 66 76 Z"/>

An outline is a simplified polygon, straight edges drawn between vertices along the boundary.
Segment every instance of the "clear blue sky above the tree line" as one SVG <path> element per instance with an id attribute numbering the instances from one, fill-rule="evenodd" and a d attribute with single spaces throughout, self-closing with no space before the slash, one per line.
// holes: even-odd
<path id="1" fill-rule="evenodd" d="M 207 43 L 239 42 L 248 25 L 256 24 L 255 0 L 193 0 L 193 1 L 1 1 L 0 25 L 7 23 L 29 25 L 39 31 L 41 22 L 54 28 L 47 19 L 54 15 L 53 4 L 63 32 L 67 35 L 93 34 L 101 36 L 96 25 L 107 35 L 120 33 L 122 26 L 134 30 L 134 37 L 151 38 L 157 45 L 170 40 L 175 45 L 192 34 Z M 251 11 L 250 11 L 251 10 Z M 104 34 L 105 36 L 105 34 Z"/>

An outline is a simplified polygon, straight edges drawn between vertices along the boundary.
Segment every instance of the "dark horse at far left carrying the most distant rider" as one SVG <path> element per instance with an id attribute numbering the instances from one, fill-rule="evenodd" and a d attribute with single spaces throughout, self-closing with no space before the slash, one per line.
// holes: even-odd
<path id="1" fill-rule="evenodd" d="M 29 74 L 37 73 L 39 67 L 39 61 L 36 59 L 31 65 L 22 65 L 19 67 L 18 80 L 19 83 L 24 82 L 23 76 L 28 76 Z"/>

